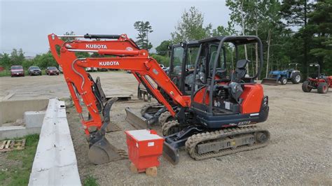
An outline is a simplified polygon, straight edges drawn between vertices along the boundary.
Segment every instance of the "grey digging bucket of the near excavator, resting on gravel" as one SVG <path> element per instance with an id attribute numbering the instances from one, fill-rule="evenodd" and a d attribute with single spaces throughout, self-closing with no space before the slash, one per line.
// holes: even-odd
<path id="1" fill-rule="evenodd" d="M 105 136 L 103 136 L 95 144 L 91 145 L 88 157 L 93 164 L 105 164 L 107 162 L 113 162 L 120 159 L 125 159 L 127 153 L 124 150 L 118 150 L 115 148 Z"/>

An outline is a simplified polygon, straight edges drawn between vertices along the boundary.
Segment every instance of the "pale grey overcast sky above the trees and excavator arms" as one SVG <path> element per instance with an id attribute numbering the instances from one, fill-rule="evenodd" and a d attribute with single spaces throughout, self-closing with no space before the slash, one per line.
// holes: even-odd
<path id="1" fill-rule="evenodd" d="M 134 22 L 149 21 L 153 48 L 170 39 L 184 10 L 198 8 L 205 25 L 227 26 L 225 1 L 8 1 L 0 0 L 0 52 L 22 48 L 27 56 L 48 51 L 47 35 L 127 34 L 136 40 Z"/>

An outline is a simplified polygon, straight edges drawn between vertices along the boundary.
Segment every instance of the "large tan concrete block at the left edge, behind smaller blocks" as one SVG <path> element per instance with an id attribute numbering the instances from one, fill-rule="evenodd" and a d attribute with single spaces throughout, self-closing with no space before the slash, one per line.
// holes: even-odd
<path id="1" fill-rule="evenodd" d="M 0 124 L 23 118 L 26 111 L 46 110 L 48 99 L 0 101 Z"/>

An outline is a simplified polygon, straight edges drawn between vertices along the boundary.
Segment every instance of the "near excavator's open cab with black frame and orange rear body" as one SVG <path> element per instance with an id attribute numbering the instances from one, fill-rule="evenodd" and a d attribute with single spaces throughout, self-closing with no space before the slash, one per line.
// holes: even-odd
<path id="1" fill-rule="evenodd" d="M 233 115 L 233 118 L 237 115 L 239 118 L 236 120 L 248 117 L 242 114 L 248 112 L 248 100 L 255 99 L 253 96 L 248 96 L 248 92 L 263 92 L 261 85 L 256 86 L 254 81 L 263 65 L 261 41 L 256 36 L 218 36 L 199 42 L 201 45 L 193 73 L 193 76 L 198 78 L 193 82 L 191 90 L 191 109 L 195 113 L 201 113 L 201 115 L 198 114 L 198 120 L 203 120 L 202 122 L 209 128 L 214 128 L 226 123 L 226 115 Z M 248 66 L 252 65 L 251 61 L 239 57 L 239 46 L 250 43 L 258 43 L 259 66 L 253 76 L 249 76 L 247 71 Z M 230 44 L 233 44 L 233 48 L 230 48 Z M 230 51 L 229 56 L 229 53 L 233 55 L 232 50 L 235 50 L 235 59 L 230 57 L 232 59 L 226 61 L 226 51 Z M 264 102 L 263 95 L 260 96 L 255 103 L 258 104 L 254 110 L 257 113 L 260 112 L 261 103 Z M 262 115 L 259 120 L 264 120 L 263 117 L 265 116 Z"/>

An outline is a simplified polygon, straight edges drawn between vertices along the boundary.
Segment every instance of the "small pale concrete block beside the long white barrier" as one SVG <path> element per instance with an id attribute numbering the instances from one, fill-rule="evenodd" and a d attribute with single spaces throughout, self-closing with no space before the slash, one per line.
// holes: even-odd
<path id="1" fill-rule="evenodd" d="M 41 127 L 46 111 L 27 111 L 25 112 L 25 127 Z"/>

